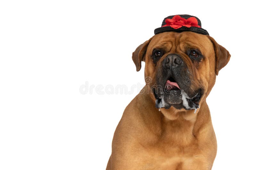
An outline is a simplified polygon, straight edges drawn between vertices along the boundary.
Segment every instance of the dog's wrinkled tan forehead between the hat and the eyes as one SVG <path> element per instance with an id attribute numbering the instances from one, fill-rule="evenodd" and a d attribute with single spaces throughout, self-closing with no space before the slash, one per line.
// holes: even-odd
<path id="1" fill-rule="evenodd" d="M 163 32 L 152 37 L 148 50 L 163 49 L 166 52 L 171 49 L 184 51 L 188 48 L 199 49 L 207 52 L 213 49 L 212 43 L 207 35 L 195 32 Z"/>

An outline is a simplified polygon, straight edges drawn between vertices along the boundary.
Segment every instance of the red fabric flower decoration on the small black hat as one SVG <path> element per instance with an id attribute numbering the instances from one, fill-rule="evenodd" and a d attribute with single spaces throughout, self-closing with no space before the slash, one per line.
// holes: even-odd
<path id="1" fill-rule="evenodd" d="M 178 29 L 182 26 L 186 26 L 188 28 L 191 26 L 200 27 L 195 17 L 190 17 L 188 19 L 185 19 L 180 17 L 179 15 L 175 15 L 172 19 L 165 19 L 165 23 L 166 25 L 163 25 L 163 26 L 170 26 L 174 29 Z"/>

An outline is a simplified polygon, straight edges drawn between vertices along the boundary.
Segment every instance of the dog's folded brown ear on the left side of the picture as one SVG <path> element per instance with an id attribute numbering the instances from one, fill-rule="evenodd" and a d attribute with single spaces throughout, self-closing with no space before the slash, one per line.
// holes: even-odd
<path id="1" fill-rule="evenodd" d="M 148 48 L 148 44 L 152 38 L 140 44 L 136 50 L 132 53 L 132 60 L 136 66 L 136 70 L 140 71 L 141 61 L 145 61 L 145 54 Z"/>

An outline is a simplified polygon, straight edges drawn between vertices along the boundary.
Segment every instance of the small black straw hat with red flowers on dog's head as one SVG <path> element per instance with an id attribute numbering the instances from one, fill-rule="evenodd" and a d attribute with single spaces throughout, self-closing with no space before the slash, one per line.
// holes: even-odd
<path id="1" fill-rule="evenodd" d="M 162 26 L 155 29 L 155 34 L 169 31 L 191 31 L 198 34 L 209 35 L 206 30 L 201 28 L 200 19 L 191 15 L 172 15 L 164 18 Z"/>

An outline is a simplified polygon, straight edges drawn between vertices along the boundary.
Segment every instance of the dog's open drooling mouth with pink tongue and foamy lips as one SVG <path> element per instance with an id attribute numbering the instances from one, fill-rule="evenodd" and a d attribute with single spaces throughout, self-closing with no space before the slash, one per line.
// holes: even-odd
<path id="1" fill-rule="evenodd" d="M 188 95 L 188 92 L 186 93 L 185 89 L 180 88 L 178 82 L 172 76 L 166 80 L 163 89 L 157 90 L 153 89 L 156 108 L 169 109 L 171 106 L 186 110 L 199 108 L 202 90 L 196 90 L 197 92 L 193 90 L 193 94 Z"/>

